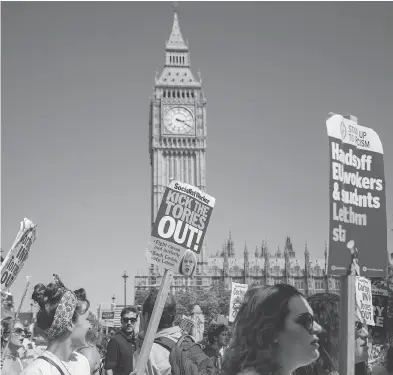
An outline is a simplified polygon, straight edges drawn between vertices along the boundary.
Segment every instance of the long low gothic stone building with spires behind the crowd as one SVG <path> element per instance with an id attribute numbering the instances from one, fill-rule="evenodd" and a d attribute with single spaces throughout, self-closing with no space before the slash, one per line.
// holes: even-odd
<path id="1" fill-rule="evenodd" d="M 231 281 L 249 285 L 274 285 L 287 283 L 294 285 L 306 296 L 316 293 L 330 292 L 339 294 L 340 278 L 327 276 L 327 249 L 324 259 L 311 259 L 305 246 L 302 256 L 296 256 L 291 239 L 287 237 L 283 251 L 280 248 L 270 253 L 263 242 L 254 251 L 245 245 L 243 256 L 235 255 L 234 241 L 229 234 L 221 251 L 208 257 L 199 274 L 193 279 L 185 279 L 181 275 L 174 276 L 171 291 L 186 287 L 210 288 L 223 285 L 231 288 Z M 135 288 L 149 288 L 150 285 L 161 284 L 162 273 L 156 270 L 148 276 L 135 277 Z"/>

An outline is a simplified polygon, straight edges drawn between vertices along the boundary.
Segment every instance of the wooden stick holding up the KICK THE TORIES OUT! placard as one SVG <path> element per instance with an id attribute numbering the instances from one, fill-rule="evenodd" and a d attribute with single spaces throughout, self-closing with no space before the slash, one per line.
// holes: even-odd
<path id="1" fill-rule="evenodd" d="M 136 374 L 144 375 L 147 361 L 149 359 L 149 354 L 153 346 L 153 341 L 156 337 L 158 324 L 160 323 L 162 311 L 164 310 L 165 302 L 169 294 L 169 289 L 171 287 L 173 278 L 173 271 L 165 270 L 164 277 L 158 291 L 157 299 L 154 304 L 153 312 L 150 317 L 149 326 L 143 340 L 141 352 L 139 354 Z"/>

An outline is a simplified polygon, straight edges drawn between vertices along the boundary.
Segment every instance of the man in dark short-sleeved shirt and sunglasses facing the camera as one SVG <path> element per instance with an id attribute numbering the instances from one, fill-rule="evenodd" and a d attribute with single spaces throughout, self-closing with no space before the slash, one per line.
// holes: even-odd
<path id="1" fill-rule="evenodd" d="M 107 375 L 129 375 L 133 370 L 133 355 L 136 349 L 135 324 L 138 310 L 134 306 L 125 307 L 121 314 L 121 330 L 109 341 L 105 370 Z"/>

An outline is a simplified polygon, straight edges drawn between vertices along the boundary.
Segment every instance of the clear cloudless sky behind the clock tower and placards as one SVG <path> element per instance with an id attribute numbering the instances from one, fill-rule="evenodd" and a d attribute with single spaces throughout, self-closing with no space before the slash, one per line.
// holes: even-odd
<path id="1" fill-rule="evenodd" d="M 329 112 L 384 145 L 393 228 L 393 4 L 180 2 L 191 68 L 207 98 L 208 254 L 291 236 L 322 258 L 328 241 Z M 133 300 L 147 271 L 149 97 L 164 66 L 170 2 L 2 2 L 1 246 L 38 225 L 11 287 L 60 275 L 100 302 Z M 393 251 L 393 232 L 388 233 Z M 32 288 L 22 310 L 29 309 Z"/>

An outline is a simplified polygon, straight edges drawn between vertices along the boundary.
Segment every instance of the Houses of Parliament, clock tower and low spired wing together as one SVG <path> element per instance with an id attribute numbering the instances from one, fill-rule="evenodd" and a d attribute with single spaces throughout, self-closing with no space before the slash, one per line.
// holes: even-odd
<path id="1" fill-rule="evenodd" d="M 183 38 L 177 10 L 172 31 L 165 45 L 165 61 L 157 71 L 149 109 L 149 154 L 151 165 L 151 225 L 157 215 L 166 186 L 172 178 L 206 191 L 207 100 L 202 77 L 194 76 L 188 42 Z M 324 259 L 311 259 L 307 246 L 302 254 L 294 251 L 288 237 L 282 251 L 271 253 L 262 243 L 255 250 L 243 250 L 235 256 L 229 234 L 221 251 L 206 256 L 206 241 L 192 279 L 174 276 L 172 291 L 186 286 L 210 288 L 231 280 L 247 284 L 290 283 L 306 295 L 322 291 L 338 292 L 339 279 L 326 276 L 327 251 Z M 138 275 L 134 287 L 160 285 L 162 270 L 150 265 L 146 274 Z"/>

